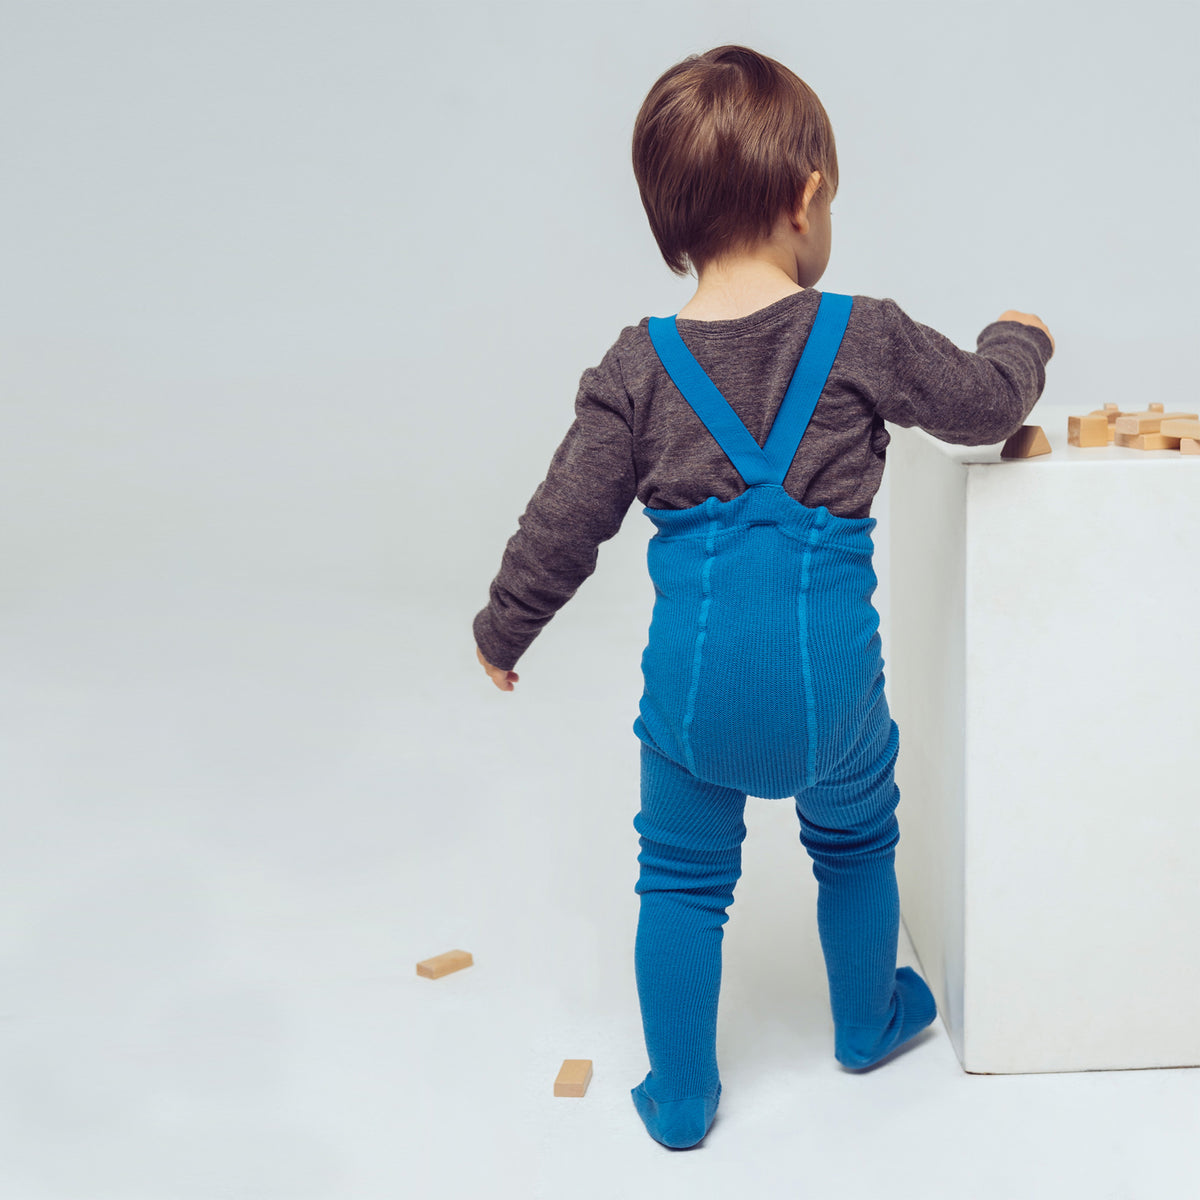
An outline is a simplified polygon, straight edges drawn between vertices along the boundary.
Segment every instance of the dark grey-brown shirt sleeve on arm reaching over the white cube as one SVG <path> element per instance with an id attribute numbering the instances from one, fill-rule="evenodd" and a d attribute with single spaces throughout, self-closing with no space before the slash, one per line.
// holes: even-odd
<path id="1" fill-rule="evenodd" d="M 1025 424 L 1054 353 L 1044 330 L 994 320 L 971 353 L 913 320 L 894 300 L 882 301 L 880 317 L 890 373 L 874 400 L 884 420 L 958 445 L 1004 442 Z"/>

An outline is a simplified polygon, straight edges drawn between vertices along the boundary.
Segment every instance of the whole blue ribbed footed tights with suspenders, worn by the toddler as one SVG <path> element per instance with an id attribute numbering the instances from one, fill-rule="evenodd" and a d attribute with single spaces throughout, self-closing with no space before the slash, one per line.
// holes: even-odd
<path id="1" fill-rule="evenodd" d="M 850 302 L 822 296 L 767 446 L 750 438 L 752 450 L 732 432 L 724 397 L 697 382 L 703 372 L 673 318 L 650 319 L 672 379 L 756 480 L 728 502 L 643 509 L 658 532 L 647 550 L 655 602 L 634 722 L 642 742 L 635 971 L 650 1070 L 632 1097 L 650 1135 L 677 1148 L 703 1139 L 721 1094 L 721 940 L 746 796 L 794 798 L 818 881 L 838 1061 L 872 1066 L 936 1016 L 925 982 L 895 965 L 899 728 L 871 604 L 876 521 L 806 508 L 781 482 Z M 779 428 L 794 438 L 791 454 Z"/>

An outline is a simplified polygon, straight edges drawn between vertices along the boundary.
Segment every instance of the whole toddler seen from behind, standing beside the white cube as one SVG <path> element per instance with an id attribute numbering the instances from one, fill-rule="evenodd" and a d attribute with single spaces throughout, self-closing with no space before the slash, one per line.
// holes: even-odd
<path id="1" fill-rule="evenodd" d="M 650 229 L 696 294 L 625 326 L 582 374 L 575 420 L 474 620 L 498 688 L 575 594 L 634 502 L 655 526 L 634 818 L 635 976 L 647 1132 L 697 1145 L 721 1094 L 721 938 L 748 796 L 794 799 L 818 882 L 834 1055 L 881 1062 L 937 1015 L 896 967 L 899 730 L 871 595 L 884 420 L 962 445 L 1004 440 L 1054 340 L 1004 312 L 968 353 L 893 300 L 816 290 L 838 191 L 817 96 L 743 46 L 690 55 L 647 95 L 634 174 Z"/>

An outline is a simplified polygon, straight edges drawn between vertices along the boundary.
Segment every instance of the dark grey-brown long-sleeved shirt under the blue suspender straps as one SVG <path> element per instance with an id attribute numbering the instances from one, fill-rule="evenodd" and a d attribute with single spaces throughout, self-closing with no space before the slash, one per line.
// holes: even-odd
<path id="1" fill-rule="evenodd" d="M 677 320 L 679 336 L 762 445 L 816 317 L 814 288 L 731 320 Z M 635 499 L 652 509 L 731 500 L 745 482 L 683 398 L 650 342 L 626 325 L 580 379 L 575 420 L 509 539 L 475 642 L 511 670 L 595 570 L 599 547 Z M 784 490 L 809 508 L 870 516 L 890 434 L 884 421 L 943 442 L 991 445 L 1025 424 L 1045 386 L 1050 338 L 1015 320 L 985 325 L 974 353 L 856 295 L 841 347 Z"/>

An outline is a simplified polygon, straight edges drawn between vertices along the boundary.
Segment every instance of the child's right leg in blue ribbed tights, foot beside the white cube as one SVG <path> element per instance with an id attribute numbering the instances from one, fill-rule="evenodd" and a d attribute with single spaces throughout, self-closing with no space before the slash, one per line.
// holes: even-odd
<path id="1" fill-rule="evenodd" d="M 912 967 L 895 965 L 899 730 L 882 700 L 875 718 L 836 776 L 796 797 L 800 841 L 820 884 L 817 928 L 829 976 L 834 1055 L 853 1069 L 878 1062 L 937 1015 L 925 980 Z"/>

